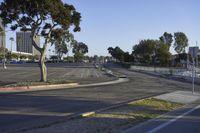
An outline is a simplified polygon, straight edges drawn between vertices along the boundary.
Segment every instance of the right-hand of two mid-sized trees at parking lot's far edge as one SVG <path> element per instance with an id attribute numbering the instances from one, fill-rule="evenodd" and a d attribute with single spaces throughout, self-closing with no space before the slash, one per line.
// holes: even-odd
<path id="1" fill-rule="evenodd" d="M 88 46 L 83 42 L 73 42 L 73 50 L 75 62 L 84 59 L 84 54 L 88 53 Z"/>

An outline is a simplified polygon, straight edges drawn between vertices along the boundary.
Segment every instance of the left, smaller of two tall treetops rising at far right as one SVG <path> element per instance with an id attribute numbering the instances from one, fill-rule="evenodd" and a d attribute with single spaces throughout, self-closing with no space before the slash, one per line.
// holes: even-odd
<path id="1" fill-rule="evenodd" d="M 173 42 L 173 35 L 170 33 L 165 32 L 161 37 L 160 41 L 163 42 L 164 44 L 167 44 L 168 50 L 171 47 L 171 44 Z"/>

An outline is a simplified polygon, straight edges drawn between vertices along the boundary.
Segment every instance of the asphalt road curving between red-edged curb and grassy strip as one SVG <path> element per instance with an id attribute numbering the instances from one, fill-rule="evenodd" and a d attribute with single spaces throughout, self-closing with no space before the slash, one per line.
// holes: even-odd
<path id="1" fill-rule="evenodd" d="M 92 111 L 127 100 L 174 90 L 190 90 L 191 84 L 152 77 L 116 68 L 126 74 L 126 83 L 51 91 L 0 94 L 0 131 L 16 132 L 66 120 L 69 116 Z M 199 87 L 200 88 L 200 87 Z"/>

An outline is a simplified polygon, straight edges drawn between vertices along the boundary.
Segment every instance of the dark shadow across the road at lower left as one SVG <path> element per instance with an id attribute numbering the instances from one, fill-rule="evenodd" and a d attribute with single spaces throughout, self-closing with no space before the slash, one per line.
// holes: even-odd
<path id="1" fill-rule="evenodd" d="M 68 99 L 58 96 L 1 94 L 0 131 L 13 132 L 65 121 L 82 112 L 110 106 L 110 103 Z"/>

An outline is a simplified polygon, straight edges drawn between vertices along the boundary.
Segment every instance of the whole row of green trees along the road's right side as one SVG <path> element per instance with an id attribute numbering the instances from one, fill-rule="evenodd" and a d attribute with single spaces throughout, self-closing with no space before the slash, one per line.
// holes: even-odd
<path id="1" fill-rule="evenodd" d="M 174 43 L 173 43 L 174 42 Z M 175 32 L 174 35 L 165 32 L 159 39 L 144 39 L 132 48 L 132 53 L 124 52 L 119 47 L 109 47 L 108 53 L 120 62 L 133 62 L 141 65 L 172 65 L 170 47 L 177 52 L 175 65 L 181 60 L 187 59 L 185 48 L 188 46 L 188 38 L 183 32 Z"/>

